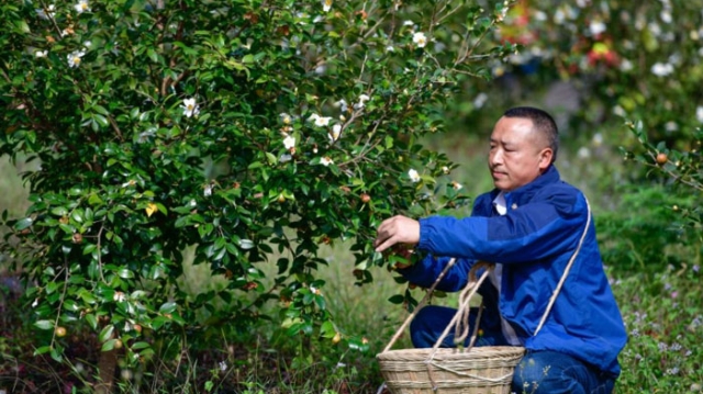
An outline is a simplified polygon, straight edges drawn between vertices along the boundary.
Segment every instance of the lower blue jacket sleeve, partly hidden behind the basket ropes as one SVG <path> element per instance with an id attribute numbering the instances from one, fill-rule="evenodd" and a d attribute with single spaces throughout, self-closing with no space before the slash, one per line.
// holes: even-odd
<path id="1" fill-rule="evenodd" d="M 421 288 L 429 288 L 437 277 L 439 277 L 442 270 L 449 263 L 449 257 L 427 255 L 415 264 L 400 269 L 398 272 L 411 283 L 417 284 Z M 454 267 L 449 269 L 436 289 L 444 292 L 456 292 L 464 289 L 472 263 L 473 261 L 467 259 L 457 259 Z"/>

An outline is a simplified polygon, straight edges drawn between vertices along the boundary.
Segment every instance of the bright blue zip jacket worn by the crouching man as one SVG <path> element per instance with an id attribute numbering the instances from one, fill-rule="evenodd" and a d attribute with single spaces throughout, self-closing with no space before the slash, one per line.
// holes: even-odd
<path id="1" fill-rule="evenodd" d="M 592 221 L 545 325 L 534 336 L 583 234 L 585 198 L 561 181 L 554 166 L 533 182 L 505 193 L 507 213 L 503 216 L 493 207 L 499 192 L 480 195 L 470 217 L 420 219 L 417 249 L 429 255 L 400 272 L 413 283 L 431 286 L 449 258 L 457 257 L 437 286 L 451 292 L 465 286 L 477 260 L 503 263 L 500 295 L 490 281 L 483 282 L 484 301 L 490 296 L 500 302 L 487 305 L 482 318 L 500 327 L 500 308 L 526 349 L 563 352 L 617 376 L 617 354 L 627 335 L 603 271 Z"/>

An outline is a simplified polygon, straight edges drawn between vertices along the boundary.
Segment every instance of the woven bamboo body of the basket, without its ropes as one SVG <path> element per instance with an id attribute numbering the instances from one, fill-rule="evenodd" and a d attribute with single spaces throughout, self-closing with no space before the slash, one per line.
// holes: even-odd
<path id="1" fill-rule="evenodd" d="M 434 357 L 433 351 L 401 349 L 377 354 L 391 393 L 509 394 L 515 365 L 525 349 L 511 346 L 436 349 Z"/>

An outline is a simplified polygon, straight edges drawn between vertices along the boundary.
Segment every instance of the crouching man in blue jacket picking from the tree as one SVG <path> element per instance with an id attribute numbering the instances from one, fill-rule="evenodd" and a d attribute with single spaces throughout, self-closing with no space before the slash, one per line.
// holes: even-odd
<path id="1" fill-rule="evenodd" d="M 585 196 L 561 181 L 554 166 L 557 126 L 542 110 L 514 108 L 498 121 L 490 143 L 488 165 L 495 189 L 476 200 L 470 217 L 391 217 L 378 228 L 376 250 L 413 245 L 426 252 L 399 272 L 427 288 L 456 257 L 437 286 L 444 291 L 462 289 L 475 262 L 495 263 L 490 281 L 479 290 L 484 309 L 477 345 L 526 348 L 512 390 L 611 393 L 627 336 Z M 566 282 L 538 330 L 572 256 Z M 433 347 L 454 314 L 442 306 L 420 311 L 411 325 L 413 345 Z M 443 346 L 454 346 L 454 338 Z"/>

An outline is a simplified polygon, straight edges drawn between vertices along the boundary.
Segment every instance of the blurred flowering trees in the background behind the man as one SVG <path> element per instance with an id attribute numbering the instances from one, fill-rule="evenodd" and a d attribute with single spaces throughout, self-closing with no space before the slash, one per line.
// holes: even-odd
<path id="1" fill-rule="evenodd" d="M 520 50 L 491 60 L 493 79 L 471 81 L 448 103 L 448 128 L 488 135 L 504 108 L 547 109 L 572 153 L 557 165 L 606 209 L 596 217 L 606 261 L 699 261 L 702 5 L 521 0 L 495 32 Z"/>

